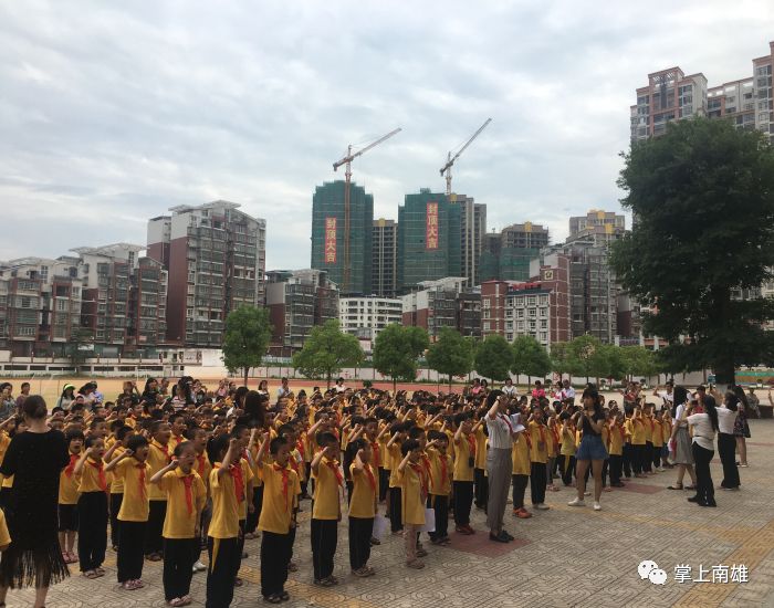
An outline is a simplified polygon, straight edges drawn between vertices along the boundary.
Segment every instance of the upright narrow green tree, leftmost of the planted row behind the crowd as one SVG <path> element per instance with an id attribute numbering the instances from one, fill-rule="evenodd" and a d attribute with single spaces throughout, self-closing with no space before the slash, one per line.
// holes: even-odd
<path id="1" fill-rule="evenodd" d="M 259 367 L 269 348 L 272 326 L 269 310 L 242 304 L 226 317 L 223 365 L 231 373 L 242 370 L 248 386 L 250 368 Z"/>

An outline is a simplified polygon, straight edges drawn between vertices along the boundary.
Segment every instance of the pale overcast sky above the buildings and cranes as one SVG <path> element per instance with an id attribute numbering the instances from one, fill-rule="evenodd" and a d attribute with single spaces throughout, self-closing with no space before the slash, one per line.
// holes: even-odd
<path id="1" fill-rule="evenodd" d="M 310 265 L 315 185 L 349 143 L 375 216 L 443 191 L 446 153 L 488 227 L 619 210 L 647 74 L 752 75 L 771 0 L 0 2 L 0 259 L 145 244 L 174 205 L 268 221 L 266 268 Z M 604 7 L 604 9 L 603 9 Z M 713 8 L 717 7 L 717 8 Z"/>

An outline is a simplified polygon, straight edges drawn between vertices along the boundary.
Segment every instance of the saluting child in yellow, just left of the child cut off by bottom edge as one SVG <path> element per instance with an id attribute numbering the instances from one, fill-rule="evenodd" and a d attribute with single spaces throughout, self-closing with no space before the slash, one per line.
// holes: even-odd
<path id="1" fill-rule="evenodd" d="M 150 478 L 167 494 L 164 518 L 164 596 L 169 606 L 190 604 L 194 560 L 199 554 L 199 522 L 207 502 L 205 482 L 194 470 L 190 441 L 175 445 L 172 461 Z"/>

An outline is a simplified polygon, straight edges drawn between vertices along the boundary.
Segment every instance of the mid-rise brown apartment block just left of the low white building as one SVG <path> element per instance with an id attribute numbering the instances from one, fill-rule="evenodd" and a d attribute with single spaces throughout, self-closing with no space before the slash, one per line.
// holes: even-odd
<path id="1" fill-rule="evenodd" d="M 326 271 L 271 271 L 266 307 L 273 328 L 271 350 L 290 356 L 304 345 L 312 327 L 338 319 L 338 287 Z"/>

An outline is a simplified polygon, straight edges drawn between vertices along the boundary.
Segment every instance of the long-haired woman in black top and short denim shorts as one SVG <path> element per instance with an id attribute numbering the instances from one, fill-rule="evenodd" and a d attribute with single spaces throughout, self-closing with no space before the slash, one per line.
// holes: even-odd
<path id="1" fill-rule="evenodd" d="M 596 388 L 583 391 L 583 411 L 575 415 L 575 428 L 583 429 L 580 447 L 575 454 L 575 485 L 578 495 L 567 503 L 569 506 L 585 506 L 586 471 L 590 462 L 594 475 L 594 511 L 602 511 L 602 468 L 607 458 L 607 450 L 602 442 L 602 429 L 605 426 L 605 412 L 602 410 L 599 394 Z"/>

